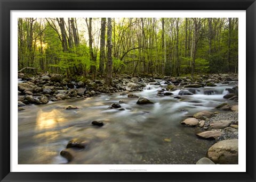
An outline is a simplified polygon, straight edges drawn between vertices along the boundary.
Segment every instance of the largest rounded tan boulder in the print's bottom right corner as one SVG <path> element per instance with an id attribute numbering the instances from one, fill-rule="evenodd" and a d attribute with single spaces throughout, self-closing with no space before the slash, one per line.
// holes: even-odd
<path id="1" fill-rule="evenodd" d="M 208 150 L 207 157 L 218 164 L 237 164 L 238 140 L 223 140 L 215 143 Z"/>

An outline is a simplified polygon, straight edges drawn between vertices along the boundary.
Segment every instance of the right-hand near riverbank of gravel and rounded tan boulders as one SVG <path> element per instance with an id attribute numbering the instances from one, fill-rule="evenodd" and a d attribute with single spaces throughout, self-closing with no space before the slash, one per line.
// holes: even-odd
<path id="1" fill-rule="evenodd" d="M 238 105 L 226 112 L 201 111 L 181 124 L 200 127 L 202 132 L 196 134 L 199 138 L 216 142 L 197 164 L 238 163 Z"/>

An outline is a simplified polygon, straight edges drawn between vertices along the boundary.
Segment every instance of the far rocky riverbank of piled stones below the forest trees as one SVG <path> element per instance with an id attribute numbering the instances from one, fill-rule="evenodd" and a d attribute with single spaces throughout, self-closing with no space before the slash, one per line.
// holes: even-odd
<path id="1" fill-rule="evenodd" d="M 80 80 L 80 81 L 79 81 Z M 83 80 L 83 81 L 81 81 Z M 70 98 L 83 99 L 87 97 L 98 96 L 101 93 L 123 92 L 127 94 L 134 91 L 142 91 L 147 83 L 159 85 L 157 80 L 165 80 L 167 84 L 166 90 L 159 91 L 157 96 L 171 96 L 171 92 L 176 89 L 182 90 L 180 95 L 194 94 L 197 89 L 204 86 L 216 86 L 215 83 L 227 84 L 237 81 L 237 75 L 213 74 L 199 75 L 195 77 L 131 77 L 120 76 L 114 77 L 110 86 L 105 85 L 104 80 L 90 80 L 85 78 L 67 79 L 59 74 L 39 74 L 36 76 L 28 76 L 19 73 L 18 83 L 18 106 L 19 110 L 23 110 L 22 106 L 27 104 L 45 104 L 49 101 L 65 100 Z M 212 94 L 214 91 L 206 90 L 204 94 Z M 238 88 L 230 89 L 227 99 L 237 100 Z"/>

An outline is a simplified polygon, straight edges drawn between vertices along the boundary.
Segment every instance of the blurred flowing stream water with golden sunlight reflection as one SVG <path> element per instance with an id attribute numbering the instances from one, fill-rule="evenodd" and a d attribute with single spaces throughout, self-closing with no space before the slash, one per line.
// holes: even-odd
<path id="1" fill-rule="evenodd" d="M 197 138 L 199 128 L 180 124 L 187 116 L 202 110 L 216 111 L 214 107 L 227 101 L 223 96 L 232 85 L 197 89 L 193 96 L 158 97 L 165 88 L 147 85 L 135 92 L 153 101 L 152 105 L 137 105 L 138 98 L 113 94 L 87 99 L 69 99 L 46 105 L 29 105 L 19 112 L 19 163 L 68 163 L 60 155 L 73 138 L 89 142 L 83 150 L 75 151 L 76 164 L 193 164 L 205 157 L 214 141 Z M 204 90 L 214 90 L 204 95 Z M 123 100 L 123 111 L 109 109 L 112 103 Z M 231 102 L 231 101 L 230 101 Z M 234 102 L 234 101 L 232 101 Z M 67 105 L 77 110 L 65 110 Z M 93 126 L 93 120 L 102 121 L 102 127 Z"/>

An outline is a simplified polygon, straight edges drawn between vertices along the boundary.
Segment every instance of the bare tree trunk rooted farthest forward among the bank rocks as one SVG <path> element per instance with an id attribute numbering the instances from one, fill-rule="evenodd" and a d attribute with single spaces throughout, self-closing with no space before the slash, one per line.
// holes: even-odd
<path id="1" fill-rule="evenodd" d="M 111 18 L 108 18 L 108 31 L 107 31 L 107 48 L 108 48 L 108 62 L 107 62 L 107 75 L 106 82 L 107 86 L 111 85 L 112 81 L 112 24 Z"/>

